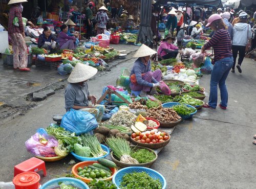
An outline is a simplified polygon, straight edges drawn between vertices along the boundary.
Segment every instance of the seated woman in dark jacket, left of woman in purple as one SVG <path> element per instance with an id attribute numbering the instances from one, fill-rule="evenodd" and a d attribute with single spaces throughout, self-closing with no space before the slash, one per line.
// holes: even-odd
<path id="1" fill-rule="evenodd" d="M 51 28 L 46 26 L 42 34 L 38 38 L 38 48 L 44 48 L 54 53 L 57 49 L 58 43 L 56 43 L 56 37 L 52 35 Z"/>

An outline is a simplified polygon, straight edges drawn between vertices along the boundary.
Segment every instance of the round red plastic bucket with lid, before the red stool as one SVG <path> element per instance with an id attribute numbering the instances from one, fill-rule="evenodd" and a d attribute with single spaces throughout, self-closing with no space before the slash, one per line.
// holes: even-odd
<path id="1" fill-rule="evenodd" d="M 16 175 L 12 182 L 15 189 L 38 189 L 40 175 L 35 172 L 24 172 Z"/>

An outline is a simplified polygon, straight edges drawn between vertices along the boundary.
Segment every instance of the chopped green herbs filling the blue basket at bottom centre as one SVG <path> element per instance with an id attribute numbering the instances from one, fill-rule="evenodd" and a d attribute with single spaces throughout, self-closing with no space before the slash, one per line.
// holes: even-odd
<path id="1" fill-rule="evenodd" d="M 127 173 L 123 176 L 121 188 L 125 189 L 162 189 L 162 183 L 159 179 L 153 179 L 146 172 Z"/>

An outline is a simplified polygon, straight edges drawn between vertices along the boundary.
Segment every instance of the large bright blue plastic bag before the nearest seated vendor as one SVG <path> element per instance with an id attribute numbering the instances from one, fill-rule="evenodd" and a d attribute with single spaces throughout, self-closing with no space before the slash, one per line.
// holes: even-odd
<path id="1" fill-rule="evenodd" d="M 71 109 L 63 115 L 60 127 L 80 135 L 95 129 L 98 123 L 91 113 Z"/>

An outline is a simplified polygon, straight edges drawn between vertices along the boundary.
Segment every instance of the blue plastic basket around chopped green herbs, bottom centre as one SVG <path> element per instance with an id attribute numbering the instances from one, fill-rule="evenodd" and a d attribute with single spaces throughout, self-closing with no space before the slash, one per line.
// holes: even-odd
<path id="1" fill-rule="evenodd" d="M 153 179 L 159 179 L 160 182 L 162 183 L 162 189 L 166 188 L 166 180 L 157 171 L 150 169 L 150 168 L 145 168 L 145 167 L 128 167 L 128 168 L 123 168 L 116 172 L 112 178 L 113 183 L 117 186 L 118 189 L 120 189 L 120 185 L 123 179 L 123 176 L 127 173 L 133 173 L 133 172 L 146 172 L 148 175 L 150 175 Z"/>

